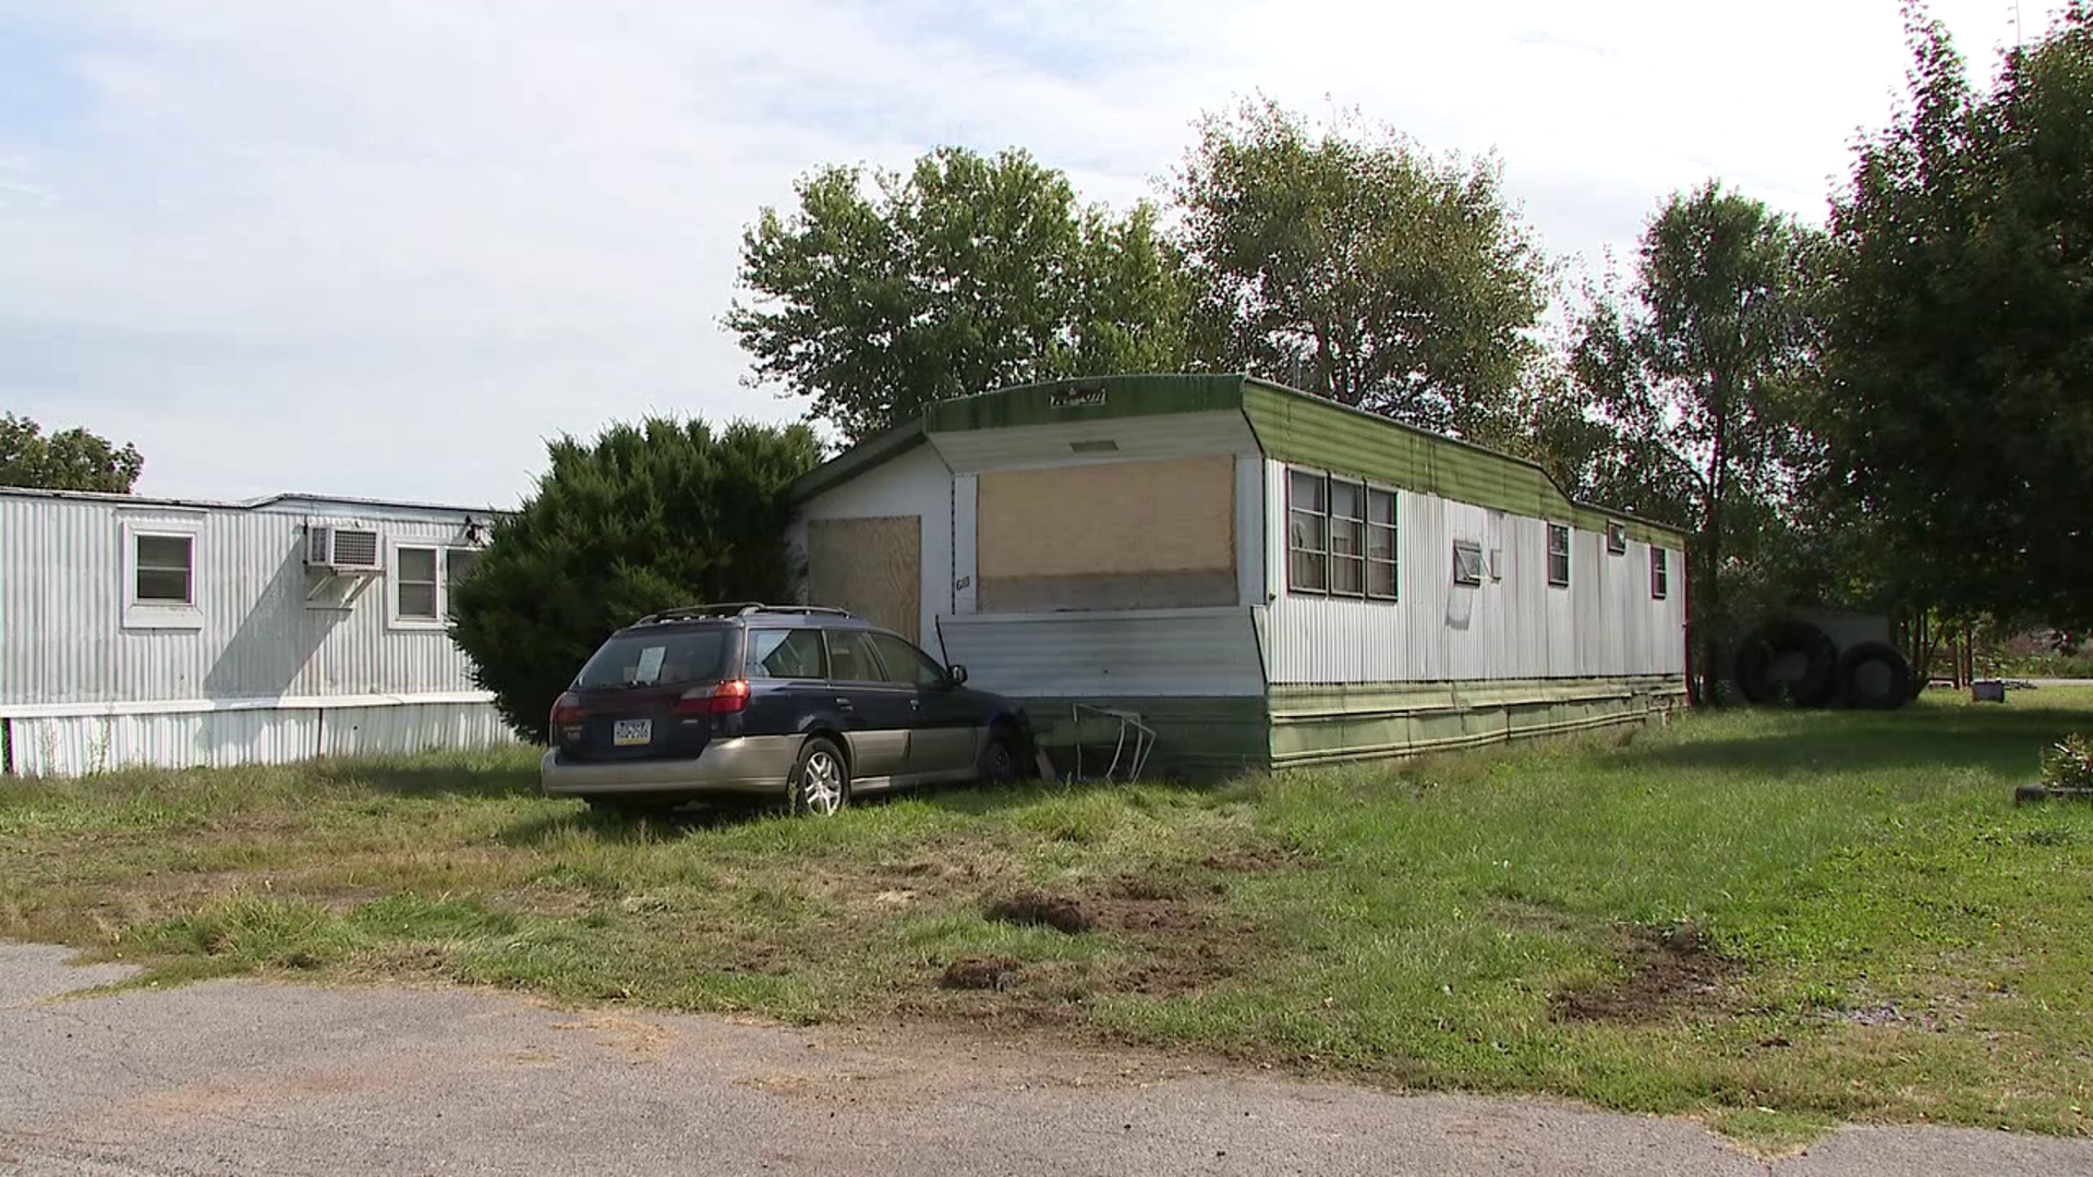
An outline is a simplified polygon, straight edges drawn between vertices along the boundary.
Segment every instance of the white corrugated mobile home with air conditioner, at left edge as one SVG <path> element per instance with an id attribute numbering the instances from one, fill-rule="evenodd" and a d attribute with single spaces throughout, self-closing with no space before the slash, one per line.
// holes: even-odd
<path id="1" fill-rule="evenodd" d="M 0 488 L 0 769 L 511 739 L 446 632 L 488 511 Z"/>

